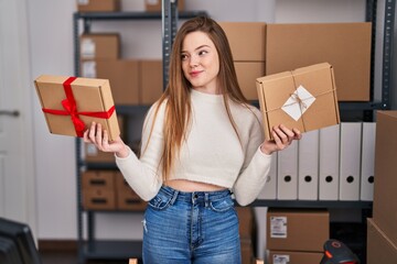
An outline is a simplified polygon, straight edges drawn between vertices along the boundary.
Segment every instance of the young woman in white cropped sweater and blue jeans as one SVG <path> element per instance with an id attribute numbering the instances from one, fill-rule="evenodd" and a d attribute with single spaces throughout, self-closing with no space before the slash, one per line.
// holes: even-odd
<path id="1" fill-rule="evenodd" d="M 143 263 L 240 263 L 234 200 L 264 188 L 270 154 L 301 133 L 280 124 L 264 139 L 260 111 L 242 94 L 227 37 L 212 19 L 179 30 L 169 84 L 149 110 L 138 158 L 121 139 L 93 123 L 85 142 L 114 152 L 131 188 L 149 201 Z"/>

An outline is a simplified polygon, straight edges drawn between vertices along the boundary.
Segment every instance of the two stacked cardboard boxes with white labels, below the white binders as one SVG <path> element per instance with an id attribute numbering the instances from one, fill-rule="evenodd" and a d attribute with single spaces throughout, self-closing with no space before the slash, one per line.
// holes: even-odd
<path id="1" fill-rule="evenodd" d="M 326 210 L 269 209 L 268 263 L 319 264 L 330 235 Z"/>

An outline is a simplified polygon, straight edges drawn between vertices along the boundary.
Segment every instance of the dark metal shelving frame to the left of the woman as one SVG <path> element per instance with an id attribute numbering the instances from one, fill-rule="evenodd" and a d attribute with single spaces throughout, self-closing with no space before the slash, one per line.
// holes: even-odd
<path id="1" fill-rule="evenodd" d="M 164 86 L 167 84 L 168 63 L 170 62 L 170 51 L 172 40 L 176 33 L 176 21 L 179 19 L 190 19 L 197 15 L 207 15 L 204 11 L 183 11 L 178 12 L 176 1 L 164 0 L 162 12 L 76 12 L 73 14 L 74 30 L 74 68 L 75 76 L 81 73 L 79 66 L 79 34 L 89 33 L 92 24 L 96 21 L 162 21 L 162 48 L 164 65 Z M 121 114 L 131 114 L 140 109 L 141 106 L 116 106 L 116 110 Z M 128 260 L 129 257 L 140 257 L 142 251 L 141 241 L 125 240 L 97 240 L 95 238 L 95 216 L 100 213 L 133 213 L 131 211 L 106 211 L 106 210 L 85 210 L 82 202 L 81 173 L 87 169 L 117 169 L 112 163 L 85 163 L 81 158 L 82 142 L 76 140 L 76 175 L 77 175 L 77 237 L 78 237 L 78 263 L 84 264 L 87 260 Z M 84 239 L 86 233 L 87 240 Z"/>

